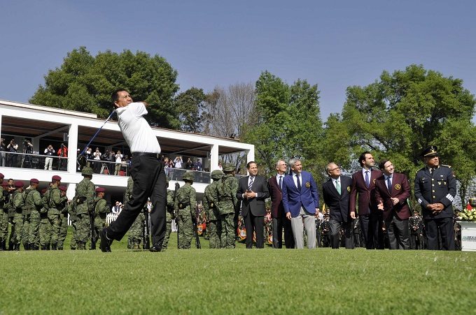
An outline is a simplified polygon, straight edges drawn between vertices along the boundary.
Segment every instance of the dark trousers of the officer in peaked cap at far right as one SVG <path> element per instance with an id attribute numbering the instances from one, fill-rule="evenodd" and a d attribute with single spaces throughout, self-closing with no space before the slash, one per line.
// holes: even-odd
<path id="1" fill-rule="evenodd" d="M 454 225 L 453 218 L 425 220 L 428 249 L 444 251 L 454 250 Z M 441 238 L 441 247 L 438 244 L 438 232 Z"/>

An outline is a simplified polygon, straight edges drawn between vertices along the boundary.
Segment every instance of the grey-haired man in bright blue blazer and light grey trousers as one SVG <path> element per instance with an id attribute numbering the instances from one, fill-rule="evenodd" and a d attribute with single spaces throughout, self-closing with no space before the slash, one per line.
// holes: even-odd
<path id="1" fill-rule="evenodd" d="M 303 231 L 306 230 L 307 248 L 316 248 L 316 221 L 319 214 L 319 194 L 311 173 L 302 171 L 300 159 L 289 161 L 290 175 L 283 181 L 283 207 L 291 221 L 295 246 L 304 248 Z"/>

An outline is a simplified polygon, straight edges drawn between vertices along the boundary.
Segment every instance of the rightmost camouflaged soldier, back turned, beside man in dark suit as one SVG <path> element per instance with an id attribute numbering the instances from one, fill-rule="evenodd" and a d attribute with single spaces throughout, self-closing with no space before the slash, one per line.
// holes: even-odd
<path id="1" fill-rule="evenodd" d="M 223 177 L 218 181 L 218 209 L 221 221 L 221 247 L 235 248 L 235 210 L 238 204 L 238 181 L 235 178 L 235 166 L 226 163 Z"/>

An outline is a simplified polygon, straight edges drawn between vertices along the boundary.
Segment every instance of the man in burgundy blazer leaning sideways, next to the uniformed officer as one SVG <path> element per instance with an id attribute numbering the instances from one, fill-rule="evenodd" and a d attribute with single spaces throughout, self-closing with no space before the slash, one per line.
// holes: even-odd
<path id="1" fill-rule="evenodd" d="M 375 198 L 377 207 L 384 214 L 390 249 L 409 249 L 410 208 L 407 199 L 410 196 L 410 186 L 407 177 L 394 173 L 391 161 L 384 160 L 379 164 L 384 175 L 375 182 Z"/>

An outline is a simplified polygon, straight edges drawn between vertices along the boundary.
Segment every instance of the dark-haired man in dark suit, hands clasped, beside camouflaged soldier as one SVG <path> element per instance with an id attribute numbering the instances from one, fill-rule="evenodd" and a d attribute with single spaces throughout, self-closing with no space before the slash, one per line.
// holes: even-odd
<path id="1" fill-rule="evenodd" d="M 256 233 L 256 247 L 265 247 L 265 199 L 269 191 L 265 177 L 258 175 L 258 165 L 251 161 L 246 164 L 248 176 L 239 180 L 237 198 L 241 200 L 241 215 L 246 228 L 246 248 L 253 248 L 253 230 Z"/>

